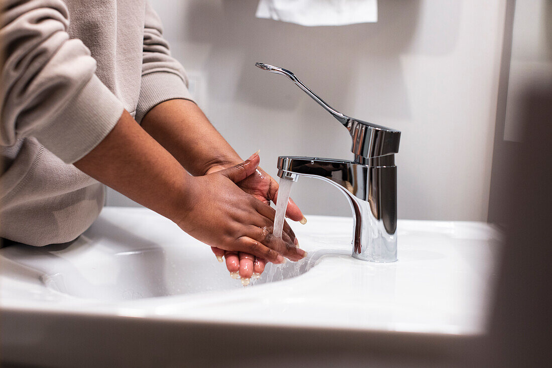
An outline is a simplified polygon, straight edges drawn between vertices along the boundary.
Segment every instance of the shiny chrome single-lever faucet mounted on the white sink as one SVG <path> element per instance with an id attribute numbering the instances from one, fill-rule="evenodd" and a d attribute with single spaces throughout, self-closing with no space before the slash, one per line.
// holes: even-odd
<path id="1" fill-rule="evenodd" d="M 401 132 L 339 113 L 323 102 L 294 73 L 263 63 L 256 66 L 293 81 L 336 118 L 351 134 L 354 161 L 280 156 L 278 176 L 319 178 L 346 195 L 353 210 L 353 257 L 372 262 L 397 260 L 397 167 Z"/>

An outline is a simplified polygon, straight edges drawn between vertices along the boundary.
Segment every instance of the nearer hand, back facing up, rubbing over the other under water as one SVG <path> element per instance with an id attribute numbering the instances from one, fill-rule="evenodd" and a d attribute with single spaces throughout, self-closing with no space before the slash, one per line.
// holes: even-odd
<path id="1" fill-rule="evenodd" d="M 253 174 L 258 164 L 255 154 L 236 166 L 187 178 L 185 205 L 178 209 L 175 222 L 212 247 L 250 253 L 273 263 L 284 263 L 284 257 L 298 261 L 306 253 L 295 246 L 293 232 L 284 232 L 284 239 L 273 236 L 274 209 L 236 185 Z"/>

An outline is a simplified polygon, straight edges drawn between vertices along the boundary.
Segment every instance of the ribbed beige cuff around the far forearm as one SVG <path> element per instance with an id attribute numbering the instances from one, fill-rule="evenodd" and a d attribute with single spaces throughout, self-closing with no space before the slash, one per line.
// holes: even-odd
<path id="1" fill-rule="evenodd" d="M 153 72 L 142 76 L 140 97 L 136 106 L 137 122 L 154 106 L 176 98 L 193 101 L 192 95 L 178 74 L 171 72 Z"/>

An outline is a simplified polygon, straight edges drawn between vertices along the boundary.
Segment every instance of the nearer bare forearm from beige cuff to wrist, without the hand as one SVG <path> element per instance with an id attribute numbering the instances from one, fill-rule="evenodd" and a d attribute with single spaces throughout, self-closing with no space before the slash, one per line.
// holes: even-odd
<path id="1" fill-rule="evenodd" d="M 186 205 L 189 180 L 177 160 L 136 123 L 129 113 L 75 166 L 130 199 L 178 221 Z"/>

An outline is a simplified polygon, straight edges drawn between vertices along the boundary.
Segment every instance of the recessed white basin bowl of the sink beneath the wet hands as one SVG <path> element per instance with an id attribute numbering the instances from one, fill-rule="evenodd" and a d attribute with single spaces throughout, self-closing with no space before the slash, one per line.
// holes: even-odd
<path id="1" fill-rule="evenodd" d="M 120 212 L 123 216 L 118 218 Z M 315 252 L 297 263 L 269 264 L 262 278 L 251 284 L 298 276 L 322 255 L 348 254 L 346 249 Z M 229 277 L 209 247 L 145 210 L 108 208 L 75 242 L 46 247 L 21 244 L 1 254 L 3 268 L 15 279 L 18 274 L 26 275 L 31 284 L 43 287 L 34 291 L 34 300 L 73 296 L 115 302 L 243 287 Z M 17 292 L 24 293 L 25 288 Z M 3 295 L 8 296 L 8 291 Z"/>

